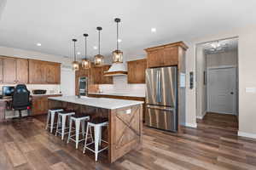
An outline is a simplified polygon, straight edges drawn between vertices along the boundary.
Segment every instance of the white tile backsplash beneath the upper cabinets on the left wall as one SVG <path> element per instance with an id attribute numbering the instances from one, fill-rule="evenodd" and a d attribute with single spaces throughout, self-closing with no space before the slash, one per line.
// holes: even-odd
<path id="1" fill-rule="evenodd" d="M 1 84 L 0 94 L 3 94 L 3 86 L 16 86 L 16 84 Z M 61 85 L 59 84 L 26 84 L 26 88 L 31 92 L 34 89 L 44 89 L 47 90 L 46 94 L 60 94 Z"/>

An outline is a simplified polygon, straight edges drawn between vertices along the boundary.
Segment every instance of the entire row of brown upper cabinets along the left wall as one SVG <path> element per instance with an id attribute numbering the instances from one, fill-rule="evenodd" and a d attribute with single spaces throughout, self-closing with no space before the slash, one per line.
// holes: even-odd
<path id="1" fill-rule="evenodd" d="M 0 56 L 0 83 L 60 84 L 61 64 Z"/>

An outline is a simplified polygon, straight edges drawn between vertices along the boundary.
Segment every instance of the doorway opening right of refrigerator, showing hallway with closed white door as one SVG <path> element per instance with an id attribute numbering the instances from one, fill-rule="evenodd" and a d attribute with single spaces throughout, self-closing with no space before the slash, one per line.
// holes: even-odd
<path id="1" fill-rule="evenodd" d="M 212 113 L 217 115 L 215 118 L 234 116 L 238 120 L 237 73 L 238 37 L 196 45 L 195 88 L 198 120 L 212 117 L 206 116 Z"/>

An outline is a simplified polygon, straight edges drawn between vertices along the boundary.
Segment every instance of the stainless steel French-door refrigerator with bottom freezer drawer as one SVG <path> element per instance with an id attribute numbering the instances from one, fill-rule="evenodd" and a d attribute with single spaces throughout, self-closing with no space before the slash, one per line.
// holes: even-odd
<path id="1" fill-rule="evenodd" d="M 177 67 L 147 69 L 146 84 L 146 125 L 177 132 Z"/>

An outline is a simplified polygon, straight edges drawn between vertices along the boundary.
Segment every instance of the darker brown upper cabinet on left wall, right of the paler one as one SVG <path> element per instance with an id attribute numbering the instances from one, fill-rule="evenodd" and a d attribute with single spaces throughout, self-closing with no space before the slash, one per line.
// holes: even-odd
<path id="1" fill-rule="evenodd" d="M 29 59 L 29 83 L 60 84 L 61 64 Z"/>

